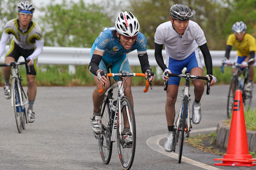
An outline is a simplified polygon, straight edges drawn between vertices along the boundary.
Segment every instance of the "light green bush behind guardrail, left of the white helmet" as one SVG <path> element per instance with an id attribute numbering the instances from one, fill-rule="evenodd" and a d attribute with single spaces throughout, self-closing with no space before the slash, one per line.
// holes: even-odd
<path id="1" fill-rule="evenodd" d="M 113 26 L 102 7 L 86 5 L 82 0 L 63 0 L 55 5 L 51 2 L 40 11 L 45 13 L 39 22 L 45 46 L 91 47 L 105 27 Z"/>

